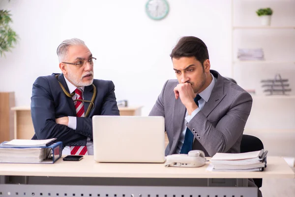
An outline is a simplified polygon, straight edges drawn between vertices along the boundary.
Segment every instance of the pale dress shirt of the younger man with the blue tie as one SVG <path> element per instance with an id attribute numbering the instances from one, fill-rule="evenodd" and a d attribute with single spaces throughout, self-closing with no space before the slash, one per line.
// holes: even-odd
<path id="1" fill-rule="evenodd" d="M 186 124 L 189 123 L 189 121 L 191 121 L 191 119 L 193 119 L 193 117 L 195 117 L 195 115 L 197 113 L 199 113 L 199 111 L 202 110 L 202 108 L 204 107 L 204 105 L 206 104 L 206 102 L 209 100 L 210 98 L 210 95 L 211 95 L 211 92 L 215 86 L 215 83 L 217 81 L 217 79 L 211 74 L 212 76 L 212 81 L 211 83 L 208 85 L 208 87 L 203 90 L 201 93 L 199 93 L 201 99 L 198 101 L 199 103 L 199 107 L 197 109 L 195 109 L 191 115 L 188 115 L 187 111 L 185 113 L 185 118 L 183 120 L 183 124 L 182 124 L 182 132 L 180 133 L 180 137 L 179 137 L 179 142 L 177 144 L 177 148 L 176 148 L 176 151 L 175 153 L 176 154 L 179 154 L 180 151 L 181 151 L 181 147 L 183 145 L 183 142 L 184 142 L 184 136 L 185 136 L 185 131 L 186 131 Z M 195 138 L 194 138 L 195 140 Z"/>

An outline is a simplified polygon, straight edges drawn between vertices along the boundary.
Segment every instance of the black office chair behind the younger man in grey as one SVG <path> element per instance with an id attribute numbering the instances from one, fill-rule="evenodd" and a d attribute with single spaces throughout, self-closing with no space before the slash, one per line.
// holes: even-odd
<path id="1" fill-rule="evenodd" d="M 236 83 L 235 79 L 227 77 L 228 80 L 231 82 Z M 255 136 L 252 135 L 246 135 L 243 134 L 242 136 L 242 141 L 240 145 L 240 151 L 241 153 L 246 153 L 246 152 L 252 152 L 252 151 L 260 151 L 261 149 L 264 149 L 262 141 Z M 262 186 L 262 178 L 254 178 L 254 183 L 258 188 L 261 188 Z"/>

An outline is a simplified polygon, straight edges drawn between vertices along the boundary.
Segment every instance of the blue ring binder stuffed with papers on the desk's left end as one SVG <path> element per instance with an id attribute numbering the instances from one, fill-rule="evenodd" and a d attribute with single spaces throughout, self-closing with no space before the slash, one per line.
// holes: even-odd
<path id="1" fill-rule="evenodd" d="M 61 157 L 62 142 L 13 139 L 0 143 L 0 163 L 52 164 Z"/>

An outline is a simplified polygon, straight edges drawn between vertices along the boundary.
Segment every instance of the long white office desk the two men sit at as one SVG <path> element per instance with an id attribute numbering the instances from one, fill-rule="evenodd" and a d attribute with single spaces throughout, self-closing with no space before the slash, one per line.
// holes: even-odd
<path id="1" fill-rule="evenodd" d="M 95 163 L 93 156 L 80 162 L 0 164 L 0 193 L 11 197 L 257 197 L 257 188 L 247 187 L 247 178 L 295 177 L 281 157 L 267 157 L 264 172 L 210 172 L 207 165 Z"/>

